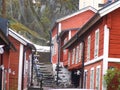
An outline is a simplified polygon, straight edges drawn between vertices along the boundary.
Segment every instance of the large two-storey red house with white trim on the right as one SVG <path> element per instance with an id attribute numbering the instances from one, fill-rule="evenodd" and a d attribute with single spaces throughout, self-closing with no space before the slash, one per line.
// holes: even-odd
<path id="1" fill-rule="evenodd" d="M 72 83 L 81 88 L 106 90 L 103 76 L 120 68 L 120 1 L 100 9 L 63 46 L 68 50 Z M 79 80 L 79 81 L 78 81 Z"/>

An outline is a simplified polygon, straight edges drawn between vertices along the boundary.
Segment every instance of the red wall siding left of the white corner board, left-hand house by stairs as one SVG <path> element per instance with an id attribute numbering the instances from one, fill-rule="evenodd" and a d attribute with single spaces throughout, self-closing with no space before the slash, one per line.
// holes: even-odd
<path id="1" fill-rule="evenodd" d="M 9 75 L 9 89 L 10 90 L 17 90 L 18 88 L 18 70 L 19 70 L 19 51 L 20 51 L 20 42 L 15 40 L 13 37 L 9 36 L 10 41 L 14 44 L 17 52 L 10 50 L 10 68 L 12 71 L 15 71 L 15 75 Z"/>

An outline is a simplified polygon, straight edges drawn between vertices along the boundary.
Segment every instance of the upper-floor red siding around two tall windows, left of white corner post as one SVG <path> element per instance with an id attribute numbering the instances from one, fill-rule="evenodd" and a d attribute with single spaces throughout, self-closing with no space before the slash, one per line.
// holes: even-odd
<path id="1" fill-rule="evenodd" d="M 96 24 L 93 26 L 93 28 L 90 30 L 88 34 L 86 34 L 85 37 L 85 62 L 87 62 L 87 39 L 88 36 L 91 37 L 90 42 L 90 60 L 94 59 L 94 49 L 95 49 L 95 31 L 99 29 L 99 53 L 98 57 L 103 55 L 103 45 L 104 45 L 104 20 L 101 21 L 101 23 Z"/>

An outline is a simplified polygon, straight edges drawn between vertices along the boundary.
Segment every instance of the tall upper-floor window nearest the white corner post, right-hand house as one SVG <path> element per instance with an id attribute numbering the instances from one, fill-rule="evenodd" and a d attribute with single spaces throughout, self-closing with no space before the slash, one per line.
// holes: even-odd
<path id="1" fill-rule="evenodd" d="M 98 57 L 98 52 L 99 52 L 99 29 L 95 31 L 94 58 Z"/>

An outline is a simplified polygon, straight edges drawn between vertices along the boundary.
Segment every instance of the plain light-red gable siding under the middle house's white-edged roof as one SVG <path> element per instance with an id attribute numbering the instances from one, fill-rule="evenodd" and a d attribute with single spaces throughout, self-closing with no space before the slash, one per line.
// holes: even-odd
<path id="1" fill-rule="evenodd" d="M 62 30 L 82 27 L 92 16 L 93 11 L 85 11 L 61 22 Z"/>

